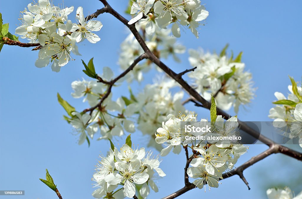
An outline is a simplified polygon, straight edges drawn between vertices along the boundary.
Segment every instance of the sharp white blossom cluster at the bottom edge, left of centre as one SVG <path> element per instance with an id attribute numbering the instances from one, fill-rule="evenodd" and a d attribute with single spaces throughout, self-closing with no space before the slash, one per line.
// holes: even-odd
<path id="1" fill-rule="evenodd" d="M 124 144 L 120 150 L 114 147 L 107 157 L 101 157 L 93 175 L 95 187 L 100 187 L 92 193 L 95 198 L 132 198 L 136 185 L 142 185 L 139 193 L 143 198 L 150 193 L 149 187 L 158 192 L 153 180 L 156 176 L 165 176 L 159 168 L 159 157 L 145 152 L 145 148 L 135 150 L 130 146 Z M 118 188 L 119 185 L 122 188 Z"/>

